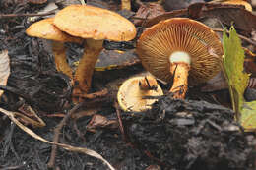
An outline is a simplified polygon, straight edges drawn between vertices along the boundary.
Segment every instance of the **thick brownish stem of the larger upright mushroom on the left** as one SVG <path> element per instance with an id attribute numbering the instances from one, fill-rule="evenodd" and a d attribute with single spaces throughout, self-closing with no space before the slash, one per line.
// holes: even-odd
<path id="1" fill-rule="evenodd" d="M 93 73 L 95 70 L 96 60 L 103 49 L 103 40 L 87 39 L 84 54 L 80 59 L 74 80 L 77 85 L 73 91 L 74 95 L 88 93 L 91 88 Z"/>

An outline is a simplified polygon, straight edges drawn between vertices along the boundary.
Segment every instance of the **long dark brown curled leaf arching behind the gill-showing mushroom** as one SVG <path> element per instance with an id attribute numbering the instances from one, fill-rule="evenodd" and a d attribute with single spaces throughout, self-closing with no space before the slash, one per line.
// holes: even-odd
<path id="1" fill-rule="evenodd" d="M 256 15 L 245 10 L 242 6 L 223 3 L 194 3 L 186 9 L 166 12 L 153 19 L 147 20 L 145 27 L 149 28 L 162 20 L 173 17 L 199 19 L 204 17 L 217 18 L 225 26 L 233 26 L 248 36 L 256 30 Z"/>

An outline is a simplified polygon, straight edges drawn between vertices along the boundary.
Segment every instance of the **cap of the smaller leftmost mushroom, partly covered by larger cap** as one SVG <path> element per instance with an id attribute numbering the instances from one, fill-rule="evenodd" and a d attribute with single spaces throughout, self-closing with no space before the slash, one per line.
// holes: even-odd
<path id="1" fill-rule="evenodd" d="M 33 23 L 27 28 L 26 33 L 29 36 L 50 39 L 61 42 L 77 42 L 82 43 L 83 39 L 73 37 L 53 25 L 54 18 L 48 18 L 39 22 Z"/>

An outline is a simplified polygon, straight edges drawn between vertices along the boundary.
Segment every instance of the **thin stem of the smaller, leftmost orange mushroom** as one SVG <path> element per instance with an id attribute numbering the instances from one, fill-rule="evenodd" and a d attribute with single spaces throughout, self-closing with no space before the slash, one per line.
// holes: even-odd
<path id="1" fill-rule="evenodd" d="M 72 78 L 72 69 L 66 60 L 66 48 L 63 42 L 52 41 L 52 52 L 57 71 L 63 72 Z"/>

